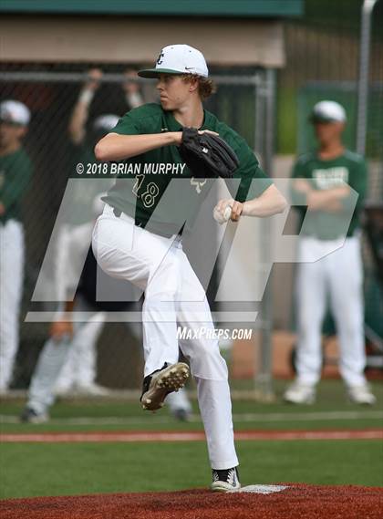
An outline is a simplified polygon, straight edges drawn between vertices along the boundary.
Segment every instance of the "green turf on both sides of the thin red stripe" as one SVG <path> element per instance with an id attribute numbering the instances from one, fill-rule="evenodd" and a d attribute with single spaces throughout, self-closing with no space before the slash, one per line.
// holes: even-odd
<path id="1" fill-rule="evenodd" d="M 248 384 L 244 383 L 243 386 Z M 285 383 L 276 383 L 280 397 Z M 248 388 L 247 388 L 248 389 Z M 374 384 L 378 405 L 360 408 L 346 402 L 337 380 L 322 382 L 313 406 L 281 402 L 233 402 L 235 429 L 316 430 L 382 427 L 383 386 Z M 16 420 L 23 401 L 2 402 L 0 414 Z M 52 421 L 41 425 L 1 424 L 2 432 L 202 430 L 193 402 L 191 423 L 180 423 L 167 410 L 151 414 L 137 402 L 62 401 Z M 320 414 L 325 413 L 325 414 Z M 345 413 L 352 413 L 345 415 Z M 86 423 L 73 420 L 87 417 Z M 108 420 L 106 420 L 108 419 Z M 105 421 L 106 420 L 106 421 Z M 383 486 L 381 441 L 239 441 L 244 484 L 305 482 Z M 0 446 L 2 498 L 181 490 L 210 481 L 203 441 L 176 443 L 3 443 Z"/>

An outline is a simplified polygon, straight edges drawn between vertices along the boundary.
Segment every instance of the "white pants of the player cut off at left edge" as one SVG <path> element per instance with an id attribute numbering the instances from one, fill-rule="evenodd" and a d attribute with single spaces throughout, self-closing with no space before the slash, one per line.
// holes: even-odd
<path id="1" fill-rule="evenodd" d="M 24 278 L 24 231 L 16 220 L 0 223 L 0 391 L 8 388 L 19 340 Z"/>

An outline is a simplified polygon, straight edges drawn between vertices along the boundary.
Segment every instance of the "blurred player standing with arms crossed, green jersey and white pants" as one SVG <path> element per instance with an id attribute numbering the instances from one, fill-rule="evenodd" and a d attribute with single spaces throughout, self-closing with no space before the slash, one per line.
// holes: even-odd
<path id="1" fill-rule="evenodd" d="M 339 369 L 350 400 L 373 404 L 375 397 L 364 376 L 366 365 L 363 309 L 363 266 L 359 213 L 367 190 L 366 163 L 345 150 L 341 134 L 346 112 L 334 101 L 313 109 L 318 150 L 295 164 L 293 200 L 306 203 L 316 218 L 300 236 L 297 265 L 297 379 L 285 391 L 285 400 L 312 403 L 322 368 L 321 331 L 327 297 L 336 321 L 340 348 Z M 358 193 L 357 208 L 348 229 L 349 187 Z M 343 228 L 342 228 L 343 227 Z M 345 239 L 345 232 L 347 236 Z M 328 254 L 328 250 L 334 250 Z M 313 262 L 313 258 L 322 259 Z"/>

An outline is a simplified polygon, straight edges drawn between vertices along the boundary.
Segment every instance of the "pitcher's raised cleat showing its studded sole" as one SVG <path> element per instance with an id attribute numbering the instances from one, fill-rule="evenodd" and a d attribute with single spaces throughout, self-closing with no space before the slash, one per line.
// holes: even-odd
<path id="1" fill-rule="evenodd" d="M 184 362 L 165 365 L 145 377 L 140 398 L 142 409 L 159 410 L 163 407 L 167 395 L 183 388 L 188 377 L 189 366 Z"/>

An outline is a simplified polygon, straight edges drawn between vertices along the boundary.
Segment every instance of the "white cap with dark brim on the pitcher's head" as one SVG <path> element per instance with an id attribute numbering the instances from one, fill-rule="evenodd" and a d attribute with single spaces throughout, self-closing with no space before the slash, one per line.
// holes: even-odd
<path id="1" fill-rule="evenodd" d="M 202 52 L 189 45 L 168 45 L 160 51 L 155 68 L 139 70 L 141 78 L 158 78 L 159 74 L 198 74 L 209 76 Z"/>

